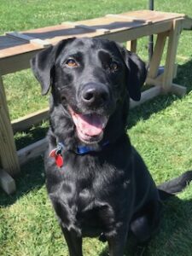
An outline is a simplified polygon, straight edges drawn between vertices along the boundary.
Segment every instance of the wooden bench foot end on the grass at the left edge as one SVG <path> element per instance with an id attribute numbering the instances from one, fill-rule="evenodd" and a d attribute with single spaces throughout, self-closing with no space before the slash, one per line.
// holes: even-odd
<path id="1" fill-rule="evenodd" d="M 8 194 L 11 195 L 16 190 L 15 180 L 9 176 L 7 172 L 0 169 L 0 187 Z"/>

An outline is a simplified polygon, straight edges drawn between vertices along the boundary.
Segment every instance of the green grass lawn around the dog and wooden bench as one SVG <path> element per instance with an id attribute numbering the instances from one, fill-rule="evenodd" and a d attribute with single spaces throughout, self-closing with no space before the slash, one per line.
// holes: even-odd
<path id="1" fill-rule="evenodd" d="M 154 1 L 155 9 L 192 16 L 192 0 Z M 83 20 L 148 9 L 148 0 L 136 1 L 63 1 L 1 0 L 0 34 L 49 26 L 65 20 Z M 147 39 L 139 41 L 139 55 L 147 60 Z M 187 87 L 187 95 L 158 96 L 131 110 L 128 133 L 131 142 L 143 155 L 156 183 L 162 183 L 191 169 L 192 166 L 192 31 L 183 32 L 177 51 L 175 83 Z M 38 83 L 29 70 L 3 78 L 11 119 L 19 118 L 47 106 Z M 17 148 L 44 137 L 47 123 L 15 134 Z M 67 245 L 55 219 L 44 186 L 44 164 L 39 157 L 22 166 L 16 178 L 17 192 L 8 196 L 0 190 L 0 255 L 1 256 L 67 256 Z M 137 255 L 192 255 L 192 184 L 167 201 L 160 233 Z M 129 242 L 125 255 L 136 255 Z M 84 255 L 106 256 L 106 244 L 84 239 Z"/>

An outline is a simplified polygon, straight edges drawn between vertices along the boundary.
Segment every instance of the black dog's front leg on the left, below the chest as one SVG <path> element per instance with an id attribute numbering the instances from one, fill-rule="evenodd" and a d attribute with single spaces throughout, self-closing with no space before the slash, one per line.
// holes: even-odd
<path id="1" fill-rule="evenodd" d="M 78 236 L 74 231 L 68 231 L 61 226 L 61 230 L 67 241 L 70 256 L 83 256 L 82 253 L 82 237 Z"/>

